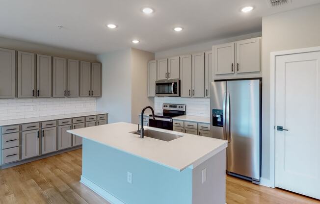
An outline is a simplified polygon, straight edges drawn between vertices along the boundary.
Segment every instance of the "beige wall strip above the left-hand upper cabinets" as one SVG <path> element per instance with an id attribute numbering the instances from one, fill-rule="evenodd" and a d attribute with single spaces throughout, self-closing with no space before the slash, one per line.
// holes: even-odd
<path id="1" fill-rule="evenodd" d="M 56 48 L 37 43 L 26 42 L 22 40 L 14 40 L 10 38 L 0 37 L 0 48 L 7 48 L 16 51 L 29 51 L 38 54 L 45 54 L 57 57 L 64 57 L 69 59 L 87 60 L 96 62 L 96 55 L 92 53 L 85 53 L 80 51 L 72 51 L 67 49 Z"/>

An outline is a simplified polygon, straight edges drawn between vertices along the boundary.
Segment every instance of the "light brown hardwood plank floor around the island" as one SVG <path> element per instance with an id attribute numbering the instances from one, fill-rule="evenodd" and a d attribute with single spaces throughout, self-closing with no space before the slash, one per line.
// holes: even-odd
<path id="1" fill-rule="evenodd" d="M 0 170 L 0 204 L 109 204 L 82 185 L 81 149 Z M 227 204 L 320 204 L 281 189 L 227 177 Z"/>

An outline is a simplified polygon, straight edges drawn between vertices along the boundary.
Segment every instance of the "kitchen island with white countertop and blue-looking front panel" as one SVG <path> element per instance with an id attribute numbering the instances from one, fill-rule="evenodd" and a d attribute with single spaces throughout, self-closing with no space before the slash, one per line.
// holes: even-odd
<path id="1" fill-rule="evenodd" d="M 147 129 L 179 138 L 140 138 L 129 123 L 68 130 L 83 138 L 80 182 L 111 204 L 225 204 L 227 141 Z"/>

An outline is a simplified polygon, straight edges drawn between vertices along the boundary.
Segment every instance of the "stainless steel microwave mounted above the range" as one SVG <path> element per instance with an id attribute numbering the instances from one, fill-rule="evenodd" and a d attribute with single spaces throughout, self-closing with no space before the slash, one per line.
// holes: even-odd
<path id="1" fill-rule="evenodd" d="M 180 80 L 160 80 L 156 81 L 156 96 L 175 96 L 180 97 Z"/>

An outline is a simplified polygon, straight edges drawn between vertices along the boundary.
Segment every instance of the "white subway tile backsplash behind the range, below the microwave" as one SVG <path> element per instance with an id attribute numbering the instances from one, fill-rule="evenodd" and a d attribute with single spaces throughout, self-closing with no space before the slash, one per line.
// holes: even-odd
<path id="1" fill-rule="evenodd" d="M 210 117 L 210 99 L 180 98 L 180 97 L 156 97 L 155 111 L 162 112 L 163 103 L 186 104 L 187 115 Z"/>

